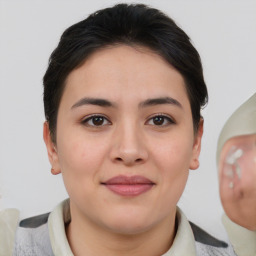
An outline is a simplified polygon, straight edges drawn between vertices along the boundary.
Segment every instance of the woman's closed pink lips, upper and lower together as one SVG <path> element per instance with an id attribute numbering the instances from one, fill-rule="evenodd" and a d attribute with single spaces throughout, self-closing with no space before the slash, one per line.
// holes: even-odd
<path id="1" fill-rule="evenodd" d="M 116 176 L 102 183 L 121 196 L 138 196 L 150 190 L 155 183 L 143 176 Z"/>

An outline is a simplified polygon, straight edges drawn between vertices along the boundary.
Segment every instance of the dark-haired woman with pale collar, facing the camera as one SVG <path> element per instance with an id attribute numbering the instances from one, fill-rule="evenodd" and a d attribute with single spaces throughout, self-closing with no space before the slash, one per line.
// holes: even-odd
<path id="1" fill-rule="evenodd" d="M 176 206 L 207 97 L 197 51 L 158 10 L 68 28 L 44 76 L 44 140 L 70 199 L 20 222 L 14 255 L 235 255 Z"/>

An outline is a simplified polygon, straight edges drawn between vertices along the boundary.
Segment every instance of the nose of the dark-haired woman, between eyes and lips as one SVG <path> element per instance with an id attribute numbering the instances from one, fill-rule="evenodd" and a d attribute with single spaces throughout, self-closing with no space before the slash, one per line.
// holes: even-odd
<path id="1" fill-rule="evenodd" d="M 117 128 L 113 137 L 110 153 L 113 162 L 132 166 L 148 159 L 145 140 L 136 125 Z"/>

